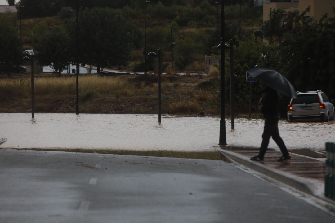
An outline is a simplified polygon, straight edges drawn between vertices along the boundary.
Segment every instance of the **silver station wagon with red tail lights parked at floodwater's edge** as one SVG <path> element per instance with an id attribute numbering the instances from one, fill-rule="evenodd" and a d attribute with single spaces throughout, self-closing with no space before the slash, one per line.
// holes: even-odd
<path id="1" fill-rule="evenodd" d="M 287 106 L 287 119 L 317 119 L 321 121 L 335 120 L 334 99 L 320 91 L 297 92 L 297 98 L 292 98 Z"/>

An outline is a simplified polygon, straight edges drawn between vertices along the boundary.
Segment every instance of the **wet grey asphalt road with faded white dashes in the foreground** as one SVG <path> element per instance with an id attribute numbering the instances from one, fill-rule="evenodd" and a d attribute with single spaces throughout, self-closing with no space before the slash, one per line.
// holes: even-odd
<path id="1" fill-rule="evenodd" d="M 0 149 L 0 222 L 334 222 L 221 160 Z"/>

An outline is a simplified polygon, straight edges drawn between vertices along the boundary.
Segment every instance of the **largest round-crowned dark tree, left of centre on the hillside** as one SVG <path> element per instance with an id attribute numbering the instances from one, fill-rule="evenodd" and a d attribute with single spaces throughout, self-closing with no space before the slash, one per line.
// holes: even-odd
<path id="1" fill-rule="evenodd" d="M 126 65 L 131 50 L 139 42 L 138 26 L 127 22 L 118 9 L 86 9 L 79 13 L 78 26 L 80 63 L 96 66 L 98 73 L 100 68 Z M 75 21 L 72 27 L 70 36 L 75 37 Z"/>

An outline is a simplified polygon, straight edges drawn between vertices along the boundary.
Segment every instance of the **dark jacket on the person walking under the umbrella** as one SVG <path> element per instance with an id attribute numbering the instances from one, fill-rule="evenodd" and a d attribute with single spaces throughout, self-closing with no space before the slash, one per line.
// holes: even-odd
<path id="1" fill-rule="evenodd" d="M 264 90 L 262 99 L 262 114 L 266 119 L 279 119 L 278 93 L 270 87 Z"/>

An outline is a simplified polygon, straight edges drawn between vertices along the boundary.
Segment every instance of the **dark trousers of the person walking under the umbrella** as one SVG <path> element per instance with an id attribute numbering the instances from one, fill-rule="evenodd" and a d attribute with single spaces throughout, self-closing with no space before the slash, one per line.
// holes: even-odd
<path id="1" fill-rule="evenodd" d="M 259 156 L 261 158 L 264 158 L 265 152 L 270 142 L 270 137 L 272 137 L 272 139 L 277 143 L 277 145 L 280 148 L 280 151 L 283 153 L 284 156 L 289 155 L 285 143 L 279 135 L 278 121 L 279 121 L 278 119 L 272 119 L 272 118 L 265 119 L 264 132 L 262 135 L 263 140 L 261 148 L 259 150 Z"/>

